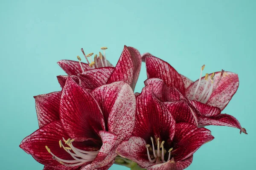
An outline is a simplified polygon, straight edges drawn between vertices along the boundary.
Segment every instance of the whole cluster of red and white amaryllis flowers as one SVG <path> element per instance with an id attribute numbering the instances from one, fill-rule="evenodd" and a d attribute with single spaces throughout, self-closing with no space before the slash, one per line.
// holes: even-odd
<path id="1" fill-rule="evenodd" d="M 35 96 L 39 129 L 20 147 L 44 170 L 183 170 L 214 137 L 207 125 L 246 130 L 221 113 L 239 86 L 237 74 L 214 72 L 193 82 L 169 63 L 125 46 L 116 67 L 105 50 L 87 63 L 61 60 L 62 90 Z M 89 61 L 90 60 L 90 61 Z M 148 79 L 134 94 L 141 63 Z"/>

